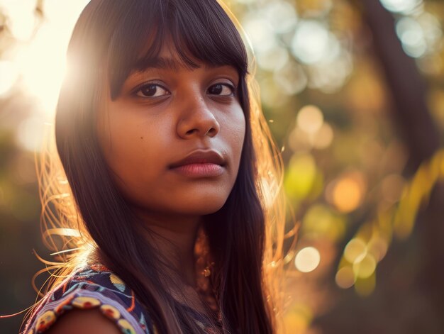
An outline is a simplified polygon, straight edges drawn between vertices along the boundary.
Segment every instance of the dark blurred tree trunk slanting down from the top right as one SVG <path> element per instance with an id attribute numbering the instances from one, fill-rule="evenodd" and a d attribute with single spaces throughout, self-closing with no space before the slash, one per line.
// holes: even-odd
<path id="1" fill-rule="evenodd" d="M 373 36 L 374 51 L 392 94 L 392 116 L 410 158 L 405 174 L 411 177 L 438 150 L 439 135 L 426 104 L 426 87 L 413 58 L 396 36 L 394 18 L 379 1 L 362 0 L 364 19 Z"/>

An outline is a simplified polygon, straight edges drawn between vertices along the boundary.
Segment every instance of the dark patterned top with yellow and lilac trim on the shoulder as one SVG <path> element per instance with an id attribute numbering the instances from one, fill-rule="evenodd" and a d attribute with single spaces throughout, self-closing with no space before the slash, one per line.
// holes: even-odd
<path id="1" fill-rule="evenodd" d="M 157 333 L 134 291 L 103 265 L 90 265 L 74 272 L 44 297 L 26 323 L 23 334 L 44 333 L 73 308 L 99 308 L 124 334 Z M 189 312 L 199 327 L 213 333 L 204 316 L 192 308 Z"/>

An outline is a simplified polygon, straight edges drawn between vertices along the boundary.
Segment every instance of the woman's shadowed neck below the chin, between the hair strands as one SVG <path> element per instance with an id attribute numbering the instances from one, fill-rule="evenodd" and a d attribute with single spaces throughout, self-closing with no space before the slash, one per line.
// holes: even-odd
<path id="1" fill-rule="evenodd" d="M 207 246 L 205 241 L 202 243 L 206 239 L 201 239 L 196 247 L 196 239 L 202 237 L 199 233 L 201 216 L 165 217 L 141 211 L 135 213 L 141 222 L 140 235 L 162 256 L 160 266 L 165 264 L 162 272 L 167 275 L 164 288 L 174 299 L 196 311 L 207 313 L 210 307 L 217 312 L 216 300 L 209 290 L 209 277 L 204 274 L 205 270 L 210 270 L 207 267 Z M 209 306 L 202 304 L 201 294 Z"/>

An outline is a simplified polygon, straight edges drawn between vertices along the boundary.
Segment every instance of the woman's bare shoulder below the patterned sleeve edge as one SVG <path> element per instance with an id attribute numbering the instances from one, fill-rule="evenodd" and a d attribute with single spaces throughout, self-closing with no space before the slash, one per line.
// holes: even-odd
<path id="1" fill-rule="evenodd" d="M 97 308 L 72 310 L 61 316 L 46 332 L 48 334 L 121 334 L 117 325 Z"/>

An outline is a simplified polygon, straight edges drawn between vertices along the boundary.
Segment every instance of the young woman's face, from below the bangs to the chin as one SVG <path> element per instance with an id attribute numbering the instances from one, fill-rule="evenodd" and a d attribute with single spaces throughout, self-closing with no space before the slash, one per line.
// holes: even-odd
<path id="1" fill-rule="evenodd" d="M 166 43 L 98 114 L 101 150 L 129 204 L 152 215 L 223 206 L 238 174 L 245 118 L 230 66 L 189 69 Z"/>

